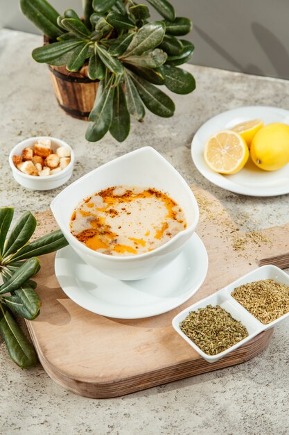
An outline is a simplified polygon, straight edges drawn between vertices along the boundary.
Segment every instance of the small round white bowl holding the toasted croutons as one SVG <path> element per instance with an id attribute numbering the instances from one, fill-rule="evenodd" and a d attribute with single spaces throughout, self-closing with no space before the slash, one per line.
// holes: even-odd
<path id="1" fill-rule="evenodd" d="M 24 148 L 33 147 L 37 140 L 41 139 L 50 139 L 51 140 L 51 148 L 53 151 L 56 151 L 58 147 L 69 147 L 71 150 L 71 161 L 64 170 L 58 172 L 57 174 L 48 175 L 47 177 L 37 177 L 36 175 L 28 175 L 24 174 L 24 172 L 19 171 L 15 164 L 13 163 L 13 156 L 21 156 Z M 33 138 L 28 138 L 22 140 L 14 148 L 12 148 L 9 155 L 9 164 L 12 169 L 12 174 L 17 183 L 24 186 L 24 188 L 32 189 L 32 190 L 51 190 L 58 188 L 62 184 L 66 183 L 73 172 L 74 166 L 74 152 L 73 149 L 64 142 L 64 140 L 60 140 L 57 138 L 51 138 L 50 136 L 35 136 Z"/>

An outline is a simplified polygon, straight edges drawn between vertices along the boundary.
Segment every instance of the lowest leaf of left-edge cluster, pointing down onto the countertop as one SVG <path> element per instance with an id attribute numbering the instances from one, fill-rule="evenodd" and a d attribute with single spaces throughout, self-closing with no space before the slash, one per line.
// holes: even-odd
<path id="1" fill-rule="evenodd" d="M 11 359 L 22 368 L 34 366 L 38 359 L 33 346 L 28 343 L 8 309 L 4 309 L 0 304 L 0 310 L 3 316 L 0 320 L 0 333 Z"/>

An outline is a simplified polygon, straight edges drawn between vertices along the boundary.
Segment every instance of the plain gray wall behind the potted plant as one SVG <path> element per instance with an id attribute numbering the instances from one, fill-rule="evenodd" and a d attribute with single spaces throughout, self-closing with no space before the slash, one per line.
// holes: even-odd
<path id="1" fill-rule="evenodd" d="M 146 3 L 146 1 L 139 1 Z M 289 79 L 288 0 L 171 0 L 178 16 L 193 19 L 191 63 Z M 62 13 L 81 13 L 81 0 L 51 0 Z M 152 10 L 152 7 L 150 8 Z M 152 18 L 158 18 L 157 13 Z M 37 33 L 17 0 L 0 0 L 0 26 Z"/>

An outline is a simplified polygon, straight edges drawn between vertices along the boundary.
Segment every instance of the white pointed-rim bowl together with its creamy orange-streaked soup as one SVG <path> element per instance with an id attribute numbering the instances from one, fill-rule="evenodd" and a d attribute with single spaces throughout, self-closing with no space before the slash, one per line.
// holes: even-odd
<path id="1" fill-rule="evenodd" d="M 92 170 L 62 190 L 51 210 L 80 258 L 121 280 L 143 279 L 168 265 L 199 218 L 191 188 L 152 147 Z"/>

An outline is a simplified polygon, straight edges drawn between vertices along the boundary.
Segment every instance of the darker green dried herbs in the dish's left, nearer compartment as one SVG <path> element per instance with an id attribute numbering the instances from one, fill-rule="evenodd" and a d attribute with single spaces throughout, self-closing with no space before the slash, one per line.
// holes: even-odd
<path id="1" fill-rule="evenodd" d="M 220 305 L 191 311 L 179 327 L 208 355 L 219 354 L 248 336 L 242 323 Z"/>

